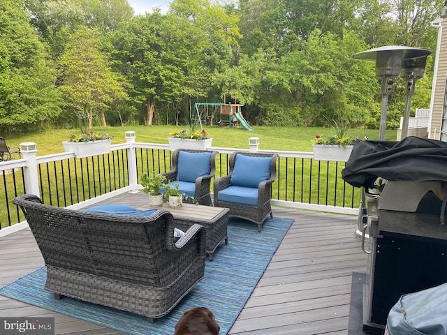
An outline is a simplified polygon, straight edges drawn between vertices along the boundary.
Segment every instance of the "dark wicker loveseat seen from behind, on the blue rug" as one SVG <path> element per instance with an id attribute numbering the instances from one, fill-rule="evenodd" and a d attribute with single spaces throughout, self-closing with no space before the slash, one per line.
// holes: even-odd
<path id="1" fill-rule="evenodd" d="M 171 311 L 205 272 L 205 230 L 193 225 L 174 243 L 167 211 L 122 216 L 48 206 L 36 195 L 22 208 L 45 265 L 45 290 L 147 316 Z"/>

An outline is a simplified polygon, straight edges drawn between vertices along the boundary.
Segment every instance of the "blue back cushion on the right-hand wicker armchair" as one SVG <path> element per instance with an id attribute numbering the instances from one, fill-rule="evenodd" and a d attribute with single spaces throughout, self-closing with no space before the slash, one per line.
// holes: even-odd
<path id="1" fill-rule="evenodd" d="M 270 157 L 251 157 L 237 154 L 230 184 L 258 188 L 261 181 L 270 178 L 271 161 L 272 158 Z"/>

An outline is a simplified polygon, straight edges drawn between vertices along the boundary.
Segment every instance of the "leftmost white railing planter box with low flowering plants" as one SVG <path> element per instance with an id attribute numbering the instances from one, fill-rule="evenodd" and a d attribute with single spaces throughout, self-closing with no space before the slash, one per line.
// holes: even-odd
<path id="1" fill-rule="evenodd" d="M 62 145 L 66 152 L 73 152 L 77 158 L 82 158 L 108 154 L 112 138 L 108 133 L 83 131 L 78 135 L 72 134 Z"/>

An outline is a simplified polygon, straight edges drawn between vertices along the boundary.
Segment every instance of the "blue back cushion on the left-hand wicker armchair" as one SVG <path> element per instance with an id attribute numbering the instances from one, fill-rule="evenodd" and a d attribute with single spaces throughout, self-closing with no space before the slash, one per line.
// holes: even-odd
<path id="1" fill-rule="evenodd" d="M 192 153 L 179 151 L 177 178 L 195 183 L 198 177 L 210 174 L 210 152 Z"/>

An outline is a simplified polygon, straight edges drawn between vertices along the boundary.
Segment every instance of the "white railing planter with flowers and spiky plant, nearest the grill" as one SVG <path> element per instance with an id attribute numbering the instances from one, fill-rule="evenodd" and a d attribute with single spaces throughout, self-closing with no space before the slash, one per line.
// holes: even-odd
<path id="1" fill-rule="evenodd" d="M 360 138 L 349 137 L 349 126 L 345 122 L 333 121 L 336 135 L 332 137 L 322 137 L 316 135 L 312 141 L 312 148 L 314 149 L 314 159 L 316 161 L 348 161 L 351 156 L 351 151 L 356 142 L 360 141 Z M 363 140 L 368 140 L 365 136 Z"/>

